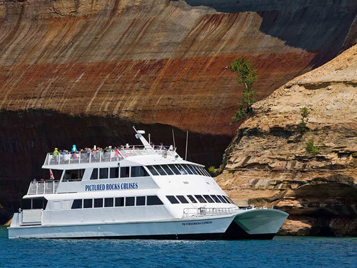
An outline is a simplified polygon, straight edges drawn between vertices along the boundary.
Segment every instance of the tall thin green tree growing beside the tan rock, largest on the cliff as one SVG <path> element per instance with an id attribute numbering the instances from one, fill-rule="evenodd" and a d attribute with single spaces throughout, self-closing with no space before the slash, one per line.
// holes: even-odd
<path id="1" fill-rule="evenodd" d="M 243 85 L 241 101 L 238 103 L 239 109 L 233 115 L 230 125 L 242 118 L 247 117 L 252 111 L 252 104 L 255 102 L 253 96 L 257 93 L 253 89 L 253 84 L 257 79 L 257 70 L 250 65 L 250 61 L 239 57 L 231 63 L 229 69 L 238 76 L 237 83 Z"/>

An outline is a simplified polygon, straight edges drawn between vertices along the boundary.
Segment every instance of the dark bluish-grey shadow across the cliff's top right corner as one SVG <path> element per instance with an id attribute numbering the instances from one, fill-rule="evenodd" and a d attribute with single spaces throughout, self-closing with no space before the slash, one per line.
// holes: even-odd
<path id="1" fill-rule="evenodd" d="M 349 33 L 357 15 L 357 3 L 353 0 L 186 0 L 186 3 L 223 13 L 258 13 L 262 17 L 260 31 L 284 40 L 288 46 L 316 53 L 312 67 L 335 58 L 356 41 L 356 33 Z"/>

